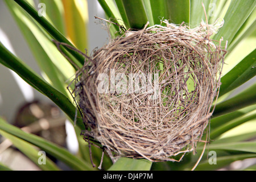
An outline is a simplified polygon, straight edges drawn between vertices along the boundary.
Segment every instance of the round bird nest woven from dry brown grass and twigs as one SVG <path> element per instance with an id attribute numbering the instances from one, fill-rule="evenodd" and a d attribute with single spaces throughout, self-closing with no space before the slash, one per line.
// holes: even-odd
<path id="1" fill-rule="evenodd" d="M 77 73 L 83 134 L 113 159 L 174 160 L 208 126 L 226 51 L 209 39 L 214 26 L 164 23 L 126 31 Z"/>

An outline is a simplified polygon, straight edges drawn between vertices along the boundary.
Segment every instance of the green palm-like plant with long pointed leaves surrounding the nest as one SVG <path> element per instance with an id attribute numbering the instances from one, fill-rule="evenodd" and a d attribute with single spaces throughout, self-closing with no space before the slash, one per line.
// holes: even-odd
<path id="1" fill-rule="evenodd" d="M 72 155 L 51 142 L 24 133 L 4 122 L 3 119 L 0 119 L 0 134 L 10 139 L 36 164 L 38 164 L 38 150 L 34 149 L 33 145 L 62 160 L 73 169 L 95 169 L 90 164 L 88 147 L 84 147 L 84 141 L 80 136 L 80 131 L 85 129 L 81 116 L 76 112 L 75 104 L 72 104 L 71 94 L 65 89 L 67 87 L 65 81 L 82 67 L 84 57 L 73 49 L 60 46 L 61 51 L 66 55 L 64 57 L 52 42 L 52 39 L 55 39 L 70 46 L 75 44 L 81 51 L 87 48 L 84 36 L 86 32 L 86 1 L 40 0 L 46 7 L 49 7 L 46 18 L 39 16 L 32 1 L 7 0 L 5 2 L 30 45 L 42 72 L 46 75 L 46 80 L 36 75 L 2 44 L 0 44 L 0 63 L 12 69 L 28 84 L 50 98 L 64 111 L 70 121 L 77 118 L 75 130 L 80 143 L 80 155 Z M 199 144 L 197 154 L 186 154 L 180 163 L 151 163 L 147 160 L 121 158 L 112 166 L 110 160 L 106 158 L 103 163 L 105 169 L 111 166 L 109 169 L 112 170 L 148 170 L 150 168 L 184 170 L 192 169 L 195 165 L 196 169 L 218 169 L 236 160 L 256 158 L 256 142 L 253 140 L 256 128 L 255 84 L 229 98 L 234 89 L 249 81 L 256 73 L 256 2 L 254 0 L 98 0 L 98 2 L 105 10 L 106 19 L 116 23 L 109 26 L 113 38 L 122 34 L 121 25 L 126 30 L 129 28 L 137 30 L 147 22 L 151 26 L 160 24 L 160 20 L 164 18 L 170 19 L 175 24 L 184 22 L 190 27 L 195 27 L 202 19 L 208 23 L 224 19 L 224 26 L 217 34 L 212 35 L 212 39 L 228 40 L 228 53 L 225 56 L 225 65 L 221 76 L 222 85 L 210 121 L 211 142 L 208 144 L 207 150 L 203 144 Z M 65 28 L 65 24 L 68 28 Z M 69 40 L 72 40 L 72 43 Z M 97 162 L 100 163 L 101 151 L 97 148 L 92 148 L 92 150 L 94 160 L 98 160 Z M 208 155 L 211 154 L 209 151 L 216 152 L 217 164 L 209 163 Z M 200 163 L 197 163 L 198 159 L 201 159 Z M 47 163 L 46 166 L 39 165 L 39 167 L 50 170 L 59 169 L 53 162 Z M 251 168 L 255 168 L 255 166 Z"/>

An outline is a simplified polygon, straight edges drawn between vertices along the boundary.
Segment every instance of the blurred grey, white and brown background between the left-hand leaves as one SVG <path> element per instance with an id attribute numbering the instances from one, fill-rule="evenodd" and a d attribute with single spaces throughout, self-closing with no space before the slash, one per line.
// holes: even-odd
<path id="1" fill-rule="evenodd" d="M 35 3 L 38 2 L 35 1 Z M 94 18 L 94 16 L 105 18 L 105 13 L 98 1 L 88 1 L 88 10 L 88 53 L 90 53 L 94 48 L 100 48 L 108 43 L 109 34 L 104 24 L 102 24 L 103 22 Z M 24 40 L 22 32 L 20 32 L 3 0 L 0 0 L 0 17 L 0 41 L 36 73 L 41 75 L 38 64 L 26 40 Z M 0 115 L 6 121 L 18 127 L 30 125 L 35 121 L 39 121 L 44 126 L 43 123 L 46 123 L 44 119 L 54 119 L 55 126 L 51 126 L 47 130 L 32 126 L 34 128 L 33 133 L 67 147 L 69 151 L 76 153 L 77 143 L 74 142 L 76 136 L 73 126 L 70 126 L 71 123 L 66 121 L 59 108 L 2 64 L 0 64 Z M 3 141 L 3 138 L 1 140 L 0 136 L 0 161 L 3 164 L 16 170 L 39 170 L 21 152 L 11 148 L 10 143 L 7 141 L 1 143 L 1 141 Z M 63 168 L 65 169 L 65 166 Z"/>

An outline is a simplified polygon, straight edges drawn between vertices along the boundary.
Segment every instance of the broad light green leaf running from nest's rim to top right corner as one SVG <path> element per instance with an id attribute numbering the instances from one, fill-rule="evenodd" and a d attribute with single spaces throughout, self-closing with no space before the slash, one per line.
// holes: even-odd
<path id="1" fill-rule="evenodd" d="M 253 11 L 256 2 L 254 0 L 247 1 L 231 1 L 228 11 L 224 17 L 225 23 L 218 33 L 214 36 L 214 40 L 220 40 L 221 37 L 224 40 L 228 40 L 228 46 L 232 42 L 237 31 L 241 28 L 243 23 L 245 23 L 248 16 Z M 242 8 L 241 8 L 242 7 Z M 222 42 L 222 46 L 225 46 L 225 41 Z"/>

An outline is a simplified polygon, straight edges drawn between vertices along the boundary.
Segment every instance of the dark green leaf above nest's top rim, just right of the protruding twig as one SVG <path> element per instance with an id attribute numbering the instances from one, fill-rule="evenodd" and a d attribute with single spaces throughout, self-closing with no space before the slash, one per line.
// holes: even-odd
<path id="1" fill-rule="evenodd" d="M 122 0 L 131 28 L 142 29 L 147 23 L 147 15 L 141 0 Z"/>

